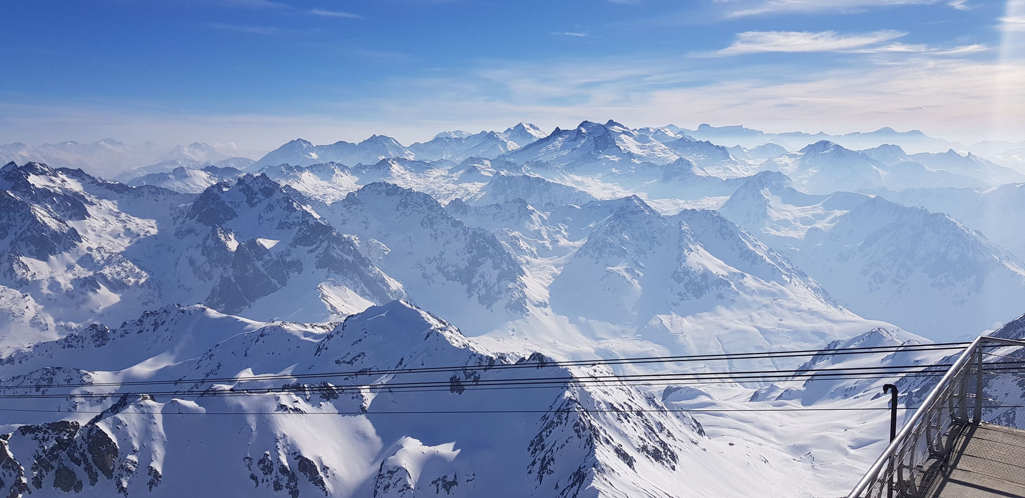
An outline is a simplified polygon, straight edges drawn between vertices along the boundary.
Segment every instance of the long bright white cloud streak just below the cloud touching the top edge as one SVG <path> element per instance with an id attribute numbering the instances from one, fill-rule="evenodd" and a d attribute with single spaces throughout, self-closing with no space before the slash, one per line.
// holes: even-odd
<path id="1" fill-rule="evenodd" d="M 907 33 L 893 30 L 837 34 L 835 31 L 746 31 L 737 34 L 732 45 L 714 52 L 737 55 L 756 52 L 829 52 L 875 45 Z"/>

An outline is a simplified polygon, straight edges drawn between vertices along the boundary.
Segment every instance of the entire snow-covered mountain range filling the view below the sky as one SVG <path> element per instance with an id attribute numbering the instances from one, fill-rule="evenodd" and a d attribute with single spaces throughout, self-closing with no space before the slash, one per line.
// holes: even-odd
<path id="1" fill-rule="evenodd" d="M 3 492 L 838 496 L 894 378 L 807 372 L 1025 312 L 1025 175 L 920 132 L 229 149 L 0 147 Z"/>

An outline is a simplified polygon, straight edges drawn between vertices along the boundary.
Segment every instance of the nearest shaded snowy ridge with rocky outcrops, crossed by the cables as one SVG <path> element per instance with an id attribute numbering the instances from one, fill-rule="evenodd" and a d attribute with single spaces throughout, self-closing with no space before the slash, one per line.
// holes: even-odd
<path id="1" fill-rule="evenodd" d="M 130 332 L 131 328 L 136 330 Z M 31 418 L 39 421 L 0 437 L 5 493 L 392 497 L 475 496 L 487 490 L 495 496 L 582 497 L 615 490 L 659 495 L 675 492 L 665 488 L 668 483 L 690 480 L 719 465 L 762 467 L 758 462 L 745 463 L 750 457 L 743 448 L 716 443 L 687 413 L 665 410 L 657 399 L 632 387 L 568 381 L 536 393 L 474 390 L 477 379 L 580 378 L 610 372 L 606 367 L 546 367 L 541 356 L 493 352 L 403 301 L 371 307 L 330 329 L 240 322 L 204 306 L 169 307 L 120 331 L 64 340 L 64 345 L 40 344 L 30 356 L 50 355 L 52 362 L 81 369 L 118 351 L 123 364 L 131 364 L 159 349 L 148 352 L 131 341 L 159 343 L 186 331 L 193 337 L 190 350 L 161 367 L 162 378 L 220 376 L 246 367 L 254 374 L 289 368 L 296 374 L 448 365 L 475 369 L 428 375 L 450 386 L 436 392 L 352 393 L 330 388 L 370 380 L 355 376 L 335 377 L 328 383 L 290 383 L 289 392 L 275 396 L 212 396 L 232 387 L 252 387 L 253 382 L 210 384 L 204 387 L 207 396 L 184 399 L 113 391 L 114 403 L 94 416 L 79 407 L 79 415 L 71 420 L 46 422 L 39 420 L 46 415 L 37 413 Z M 24 355 L 22 360 L 22 365 L 31 361 Z M 517 362 L 540 365 L 493 368 Z M 83 380 L 90 383 L 112 373 L 94 371 Z M 138 378 L 135 375 L 122 378 Z M 375 376 L 374 382 L 386 386 L 424 378 L 410 375 Z M 4 379 L 5 384 L 38 381 L 32 373 Z M 437 423 L 433 415 L 386 414 L 408 407 L 526 412 L 491 414 L 489 419 L 448 415 L 460 423 L 445 424 Z M 239 414 L 201 415 L 214 412 Z M 343 415 L 324 415 L 334 412 Z M 320 428 L 296 430 L 296 423 L 316 423 Z M 505 429 L 496 433 L 492 429 L 496 423 Z M 327 434 L 329 445 L 323 440 Z M 428 446 L 427 441 L 454 443 Z M 497 447 L 505 449 L 500 459 L 491 453 Z M 209 465 L 211 461 L 220 463 Z M 711 484 L 699 479 L 692 489 Z M 753 491 L 752 483 L 731 486 L 742 493 Z"/>

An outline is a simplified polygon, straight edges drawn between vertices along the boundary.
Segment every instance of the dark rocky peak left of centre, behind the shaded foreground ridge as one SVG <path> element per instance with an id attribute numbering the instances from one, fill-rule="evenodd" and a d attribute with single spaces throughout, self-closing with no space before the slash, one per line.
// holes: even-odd
<path id="1" fill-rule="evenodd" d="M 288 289 L 305 295 L 314 291 L 302 287 L 311 280 L 370 302 L 405 297 L 401 285 L 360 253 L 355 238 L 339 234 L 263 174 L 208 188 L 189 207 L 175 234 L 199 246 L 182 251 L 179 266 L 209 286 L 204 302 L 224 313 L 254 309 L 260 299 Z M 325 316 L 362 308 L 359 302 L 323 300 Z M 295 305 L 313 312 L 309 304 Z"/>

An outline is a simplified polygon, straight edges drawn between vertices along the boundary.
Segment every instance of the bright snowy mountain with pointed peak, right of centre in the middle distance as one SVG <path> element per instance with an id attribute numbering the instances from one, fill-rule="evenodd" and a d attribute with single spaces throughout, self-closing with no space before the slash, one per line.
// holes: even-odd
<path id="1" fill-rule="evenodd" d="M 490 334 L 495 340 L 527 340 L 545 352 L 684 355 L 814 347 L 883 325 L 834 304 L 711 211 L 666 216 L 636 196 L 582 206 L 457 201 L 446 210 L 489 230 L 526 268 L 536 297 L 526 317 Z"/>

